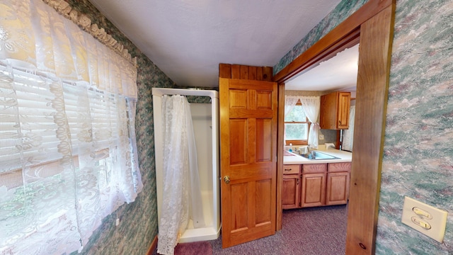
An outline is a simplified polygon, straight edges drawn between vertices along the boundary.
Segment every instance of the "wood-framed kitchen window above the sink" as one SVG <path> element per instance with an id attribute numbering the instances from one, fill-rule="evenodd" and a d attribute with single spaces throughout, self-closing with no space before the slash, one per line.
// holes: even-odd
<path id="1" fill-rule="evenodd" d="M 285 115 L 285 145 L 308 145 L 310 122 L 306 118 L 302 103 L 297 104 Z"/>

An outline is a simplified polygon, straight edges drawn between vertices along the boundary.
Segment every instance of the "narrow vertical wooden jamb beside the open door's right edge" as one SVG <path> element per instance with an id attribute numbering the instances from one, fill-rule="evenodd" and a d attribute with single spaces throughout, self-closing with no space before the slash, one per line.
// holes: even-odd
<path id="1" fill-rule="evenodd" d="M 282 229 L 283 149 L 285 143 L 285 84 L 278 85 L 277 116 L 277 213 L 276 230 Z"/>

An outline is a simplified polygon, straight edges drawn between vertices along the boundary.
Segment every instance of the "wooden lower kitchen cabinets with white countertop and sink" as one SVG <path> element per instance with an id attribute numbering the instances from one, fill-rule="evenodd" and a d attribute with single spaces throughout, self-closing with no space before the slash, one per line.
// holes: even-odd
<path id="1" fill-rule="evenodd" d="M 329 159 L 308 159 L 285 152 L 282 208 L 306 208 L 348 203 L 352 153 L 317 150 Z"/>

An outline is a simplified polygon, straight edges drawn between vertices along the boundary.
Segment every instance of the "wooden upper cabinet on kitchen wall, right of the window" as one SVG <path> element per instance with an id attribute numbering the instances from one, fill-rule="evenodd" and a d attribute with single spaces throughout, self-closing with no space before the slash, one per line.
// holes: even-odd
<path id="1" fill-rule="evenodd" d="M 350 92 L 333 92 L 321 96 L 322 129 L 341 130 L 349 128 Z"/>

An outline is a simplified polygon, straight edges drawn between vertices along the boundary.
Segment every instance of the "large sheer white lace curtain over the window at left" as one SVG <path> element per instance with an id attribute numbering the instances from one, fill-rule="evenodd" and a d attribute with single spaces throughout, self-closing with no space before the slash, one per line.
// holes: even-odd
<path id="1" fill-rule="evenodd" d="M 134 201 L 136 77 L 41 0 L 0 2 L 0 254 L 80 251 Z"/>

